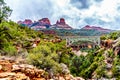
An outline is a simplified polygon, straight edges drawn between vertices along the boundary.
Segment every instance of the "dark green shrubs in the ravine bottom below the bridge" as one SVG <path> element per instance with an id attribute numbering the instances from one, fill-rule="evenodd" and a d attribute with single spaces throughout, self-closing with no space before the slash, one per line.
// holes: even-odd
<path id="1" fill-rule="evenodd" d="M 86 79 L 92 76 L 93 71 L 97 67 L 97 63 L 94 62 L 95 55 L 92 50 L 88 53 L 87 56 L 81 55 L 72 58 L 70 70 L 74 76 L 82 76 Z"/>

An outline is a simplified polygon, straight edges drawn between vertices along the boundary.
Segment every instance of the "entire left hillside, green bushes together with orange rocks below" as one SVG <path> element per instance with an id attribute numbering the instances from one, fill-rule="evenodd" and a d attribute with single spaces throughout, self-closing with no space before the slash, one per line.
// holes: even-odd
<path id="1" fill-rule="evenodd" d="M 65 75 L 71 79 L 74 77 L 68 66 L 73 56 L 65 41 L 57 36 L 45 35 L 12 21 L 0 24 L 0 79 L 66 79 Z M 43 74 L 38 74 L 39 71 Z"/>

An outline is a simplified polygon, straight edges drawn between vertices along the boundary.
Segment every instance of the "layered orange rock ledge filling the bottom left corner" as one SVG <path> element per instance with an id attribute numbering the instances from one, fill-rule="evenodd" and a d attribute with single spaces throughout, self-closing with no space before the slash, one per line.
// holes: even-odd
<path id="1" fill-rule="evenodd" d="M 0 60 L 0 79 L 5 80 L 45 80 L 41 77 L 44 70 L 29 64 L 19 64 L 9 60 Z M 34 79 L 35 78 L 35 79 Z"/>

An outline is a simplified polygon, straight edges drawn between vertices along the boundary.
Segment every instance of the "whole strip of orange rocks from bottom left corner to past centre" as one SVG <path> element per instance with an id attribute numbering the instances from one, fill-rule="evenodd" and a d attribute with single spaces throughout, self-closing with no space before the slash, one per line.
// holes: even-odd
<path id="1" fill-rule="evenodd" d="M 12 58 L 0 58 L 0 80 L 84 80 L 73 77 L 70 74 L 57 75 L 52 78 L 42 69 L 33 65 L 13 60 Z"/>

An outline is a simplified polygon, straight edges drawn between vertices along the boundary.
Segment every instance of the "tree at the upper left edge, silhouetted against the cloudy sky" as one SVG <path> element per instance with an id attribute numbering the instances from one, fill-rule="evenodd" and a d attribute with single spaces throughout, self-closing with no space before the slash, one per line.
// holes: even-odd
<path id="1" fill-rule="evenodd" d="M 6 5 L 4 0 L 0 0 L 0 23 L 3 20 L 8 19 L 8 17 L 11 15 L 12 10 L 9 6 Z"/>

